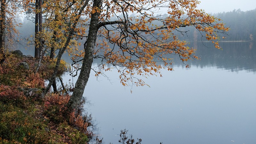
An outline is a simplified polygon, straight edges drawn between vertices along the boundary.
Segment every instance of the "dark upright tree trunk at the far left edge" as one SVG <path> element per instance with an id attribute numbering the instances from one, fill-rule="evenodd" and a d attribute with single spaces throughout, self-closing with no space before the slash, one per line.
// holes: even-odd
<path id="1" fill-rule="evenodd" d="M 0 54 L 2 58 L 0 59 L 0 64 L 2 64 L 5 60 L 5 52 L 4 52 L 4 31 L 5 31 L 5 0 L 1 2 L 1 19 L 0 19 Z"/>

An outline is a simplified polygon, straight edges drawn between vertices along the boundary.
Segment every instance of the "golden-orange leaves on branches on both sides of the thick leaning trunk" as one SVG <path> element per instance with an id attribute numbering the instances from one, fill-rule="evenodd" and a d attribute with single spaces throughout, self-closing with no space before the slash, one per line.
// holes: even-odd
<path id="1" fill-rule="evenodd" d="M 44 26 L 49 31 L 45 32 L 46 44 L 61 49 L 65 43 L 70 26 L 76 18 L 77 11 L 81 8 L 83 1 L 47 1 L 45 7 L 51 14 L 47 15 L 47 22 Z M 220 49 L 217 40 L 218 33 L 228 31 L 223 23 L 217 23 L 217 19 L 203 10 L 197 10 L 197 0 L 160 0 L 160 1 L 130 1 L 130 0 L 103 0 L 102 7 L 93 7 L 92 1 L 84 8 L 79 25 L 74 30 L 73 40 L 69 43 L 68 53 L 73 60 L 84 56 L 84 49 L 78 49 L 80 45 L 77 39 L 88 36 L 88 27 L 91 15 L 100 13 L 99 24 L 102 25 L 97 35 L 94 56 L 102 58 L 107 64 L 114 65 L 120 73 L 121 83 L 127 86 L 132 82 L 136 86 L 144 86 L 143 80 L 135 76 L 161 75 L 161 69 L 166 68 L 172 71 L 172 57 L 169 54 L 179 55 L 181 61 L 198 59 L 195 56 L 196 49 L 188 48 L 187 42 L 180 41 L 175 31 L 181 27 L 195 27 L 198 31 L 204 32 L 206 40 L 212 41 L 213 45 Z M 154 12 L 159 7 L 168 7 L 166 16 Z M 62 11 L 65 9 L 66 11 Z M 133 13 L 131 16 L 130 14 Z M 55 16 L 57 16 L 55 20 Z M 115 21 L 113 21 L 113 17 Z M 110 23 L 112 22 L 112 23 Z M 53 32 L 56 32 L 58 41 L 52 41 Z M 47 37 L 48 36 L 48 37 Z M 116 46 L 116 47 L 114 47 Z M 118 48 L 117 48 L 118 47 Z M 170 56 L 172 56 L 170 55 Z M 163 62 L 161 65 L 157 61 Z M 188 67 L 188 65 L 186 65 Z M 101 67 L 108 71 L 109 67 Z M 104 71 L 102 71 L 104 72 Z M 95 73 L 95 76 L 102 74 Z"/>

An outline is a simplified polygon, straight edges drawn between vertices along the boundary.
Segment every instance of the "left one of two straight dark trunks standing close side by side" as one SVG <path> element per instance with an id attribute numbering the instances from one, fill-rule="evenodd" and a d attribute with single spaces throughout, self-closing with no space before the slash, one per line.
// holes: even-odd
<path id="1" fill-rule="evenodd" d="M 36 19 L 35 19 L 35 58 L 39 58 L 39 35 L 38 35 L 38 0 L 36 0 Z"/>

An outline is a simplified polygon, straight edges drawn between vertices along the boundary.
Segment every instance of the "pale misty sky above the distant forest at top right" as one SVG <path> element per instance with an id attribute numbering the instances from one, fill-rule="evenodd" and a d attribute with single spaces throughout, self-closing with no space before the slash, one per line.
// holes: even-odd
<path id="1" fill-rule="evenodd" d="M 207 13 L 228 12 L 234 9 L 242 11 L 254 10 L 256 8 L 255 0 L 199 0 L 201 3 L 198 8 Z"/>

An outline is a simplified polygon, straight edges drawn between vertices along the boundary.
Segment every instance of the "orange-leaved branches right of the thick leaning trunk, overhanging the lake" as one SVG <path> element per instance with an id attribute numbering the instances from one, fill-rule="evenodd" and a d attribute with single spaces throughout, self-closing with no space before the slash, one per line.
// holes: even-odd
<path id="1" fill-rule="evenodd" d="M 182 62 L 198 59 L 196 49 L 189 48 L 188 42 L 180 41 L 175 35 L 175 32 L 186 33 L 180 30 L 181 27 L 195 27 L 217 49 L 220 49 L 218 33 L 228 31 L 223 23 L 217 22 L 220 19 L 197 10 L 199 2 L 196 0 L 114 0 L 103 3 L 103 10 L 99 12 L 102 27 L 98 32 L 102 42 L 97 42 L 94 57 L 116 66 L 124 86 L 129 81 L 136 86 L 145 85 L 143 80 L 136 79 L 136 75 L 162 76 L 162 68 L 172 70 L 173 55 L 178 55 Z M 167 14 L 156 16 L 159 6 L 166 9 Z M 116 12 L 123 14 L 116 16 L 112 23 L 108 22 Z M 127 12 L 135 14 L 130 16 Z M 102 63 L 96 76 L 109 70 L 104 65 Z"/>

